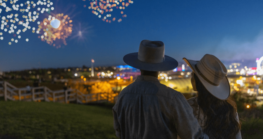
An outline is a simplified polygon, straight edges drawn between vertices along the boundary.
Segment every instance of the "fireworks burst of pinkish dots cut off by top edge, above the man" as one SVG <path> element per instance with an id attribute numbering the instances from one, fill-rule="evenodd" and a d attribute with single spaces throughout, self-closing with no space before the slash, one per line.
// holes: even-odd
<path id="1" fill-rule="evenodd" d="M 86 0 L 83 0 L 86 1 Z M 90 1 L 90 0 L 89 0 Z M 99 1 L 99 2 L 98 2 Z M 127 15 L 123 15 L 123 10 L 125 7 L 129 6 L 130 3 L 133 3 L 133 1 L 129 0 L 128 2 L 123 2 L 124 0 L 93 0 L 93 2 L 90 2 L 90 6 L 88 6 L 88 9 L 93 9 L 92 13 L 95 15 L 98 15 L 99 18 L 102 18 L 103 21 L 106 21 L 108 23 L 111 23 L 111 21 L 118 20 L 118 22 L 121 22 L 122 19 L 116 19 L 113 15 L 107 14 L 103 16 L 103 13 L 111 13 L 114 8 L 119 9 L 122 17 L 127 17 Z M 86 5 L 84 5 L 86 7 Z M 113 18 L 112 18 L 113 17 Z"/>

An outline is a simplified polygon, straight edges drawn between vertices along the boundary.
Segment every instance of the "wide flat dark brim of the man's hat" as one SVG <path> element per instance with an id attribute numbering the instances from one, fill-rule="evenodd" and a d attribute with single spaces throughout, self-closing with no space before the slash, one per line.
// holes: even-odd
<path id="1" fill-rule="evenodd" d="M 169 56 L 164 55 L 165 59 L 161 63 L 148 63 L 138 59 L 138 52 L 129 53 L 123 57 L 123 61 L 136 69 L 148 71 L 169 71 L 178 66 L 178 62 Z"/>

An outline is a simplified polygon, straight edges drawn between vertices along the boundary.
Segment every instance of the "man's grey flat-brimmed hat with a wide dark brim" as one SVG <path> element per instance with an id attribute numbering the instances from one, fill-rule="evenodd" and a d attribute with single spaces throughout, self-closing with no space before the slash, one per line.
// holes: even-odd
<path id="1" fill-rule="evenodd" d="M 139 51 L 125 55 L 123 61 L 131 67 L 148 71 L 168 71 L 178 66 L 174 58 L 164 55 L 162 41 L 141 41 Z"/>

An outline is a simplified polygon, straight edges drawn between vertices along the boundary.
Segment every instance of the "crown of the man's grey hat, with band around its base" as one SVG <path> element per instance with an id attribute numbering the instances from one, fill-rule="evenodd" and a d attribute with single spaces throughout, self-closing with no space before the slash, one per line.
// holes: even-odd
<path id="1" fill-rule="evenodd" d="M 140 43 L 138 59 L 148 63 L 164 61 L 164 43 L 162 41 L 143 40 Z"/>

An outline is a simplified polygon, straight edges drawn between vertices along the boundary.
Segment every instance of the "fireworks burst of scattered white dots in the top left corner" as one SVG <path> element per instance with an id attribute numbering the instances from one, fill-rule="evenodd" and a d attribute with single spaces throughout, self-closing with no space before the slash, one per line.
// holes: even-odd
<path id="1" fill-rule="evenodd" d="M 38 0 L 37 3 L 33 1 L 19 2 L 19 0 L 0 0 L 0 7 L 3 7 L 3 9 L 0 9 L 0 13 L 6 11 L 6 13 L 1 13 L 0 15 L 0 19 L 2 19 L 0 29 L 4 31 L 1 32 L 0 30 L 0 40 L 10 39 L 11 41 L 8 43 L 10 45 L 13 41 L 15 43 L 18 42 L 16 37 L 18 39 L 21 38 L 19 35 L 21 30 L 22 32 L 26 32 L 31 29 L 30 23 L 35 22 L 40 13 L 43 14 L 44 12 L 54 10 L 54 7 L 50 7 L 53 3 L 49 0 Z M 35 32 L 35 27 L 32 27 L 32 32 Z M 28 38 L 25 40 L 28 41 Z"/>

